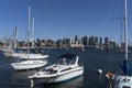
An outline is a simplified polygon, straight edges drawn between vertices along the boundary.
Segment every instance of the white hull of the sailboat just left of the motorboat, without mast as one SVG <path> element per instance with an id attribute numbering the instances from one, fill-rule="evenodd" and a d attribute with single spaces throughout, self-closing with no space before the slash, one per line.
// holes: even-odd
<path id="1" fill-rule="evenodd" d="M 20 63 L 12 63 L 11 66 L 15 70 L 24 70 L 24 69 L 33 69 L 33 68 L 40 68 L 47 64 L 46 61 L 23 61 Z"/>

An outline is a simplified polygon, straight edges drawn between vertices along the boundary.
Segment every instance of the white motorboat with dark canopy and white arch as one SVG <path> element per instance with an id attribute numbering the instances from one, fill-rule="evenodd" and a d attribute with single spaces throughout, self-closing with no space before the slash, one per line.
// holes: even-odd
<path id="1" fill-rule="evenodd" d="M 79 57 L 75 54 L 63 54 L 58 57 L 58 63 L 45 67 L 37 72 L 30 79 L 38 84 L 58 84 L 79 77 L 84 73 L 84 67 L 78 65 Z"/>

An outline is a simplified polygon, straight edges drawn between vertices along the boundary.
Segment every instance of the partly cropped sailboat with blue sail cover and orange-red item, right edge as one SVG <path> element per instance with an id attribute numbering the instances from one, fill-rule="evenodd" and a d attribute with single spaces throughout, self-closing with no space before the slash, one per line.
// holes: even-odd
<path id="1" fill-rule="evenodd" d="M 125 13 L 124 13 L 124 42 L 125 42 L 125 58 L 123 61 L 123 66 L 121 67 L 123 75 L 114 75 L 108 77 L 113 79 L 113 88 L 132 88 L 132 76 L 130 75 L 130 65 L 128 61 L 128 0 L 124 0 L 125 3 Z"/>

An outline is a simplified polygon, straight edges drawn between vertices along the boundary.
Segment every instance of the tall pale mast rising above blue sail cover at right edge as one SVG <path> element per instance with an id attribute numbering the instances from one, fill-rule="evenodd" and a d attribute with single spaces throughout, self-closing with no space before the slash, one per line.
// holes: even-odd
<path id="1" fill-rule="evenodd" d="M 128 61 L 128 7 L 125 0 L 125 13 L 124 13 L 124 42 L 125 42 L 125 59 Z"/>

